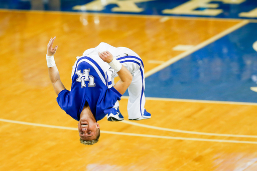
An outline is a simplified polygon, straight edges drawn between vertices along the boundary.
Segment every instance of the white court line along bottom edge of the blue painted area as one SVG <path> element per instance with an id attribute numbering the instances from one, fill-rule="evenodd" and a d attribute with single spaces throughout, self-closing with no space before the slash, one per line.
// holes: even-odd
<path id="1" fill-rule="evenodd" d="M 122 96 L 121 99 L 129 99 L 129 96 Z M 177 101 L 177 102 L 190 102 L 190 103 L 213 103 L 213 104 L 232 104 L 232 105 L 249 105 L 257 106 L 257 103 L 252 102 L 235 102 L 235 101 L 215 101 L 215 100 L 194 100 L 194 99 L 173 99 L 173 98 L 159 98 L 159 97 L 146 97 L 146 100 L 155 101 Z"/>

